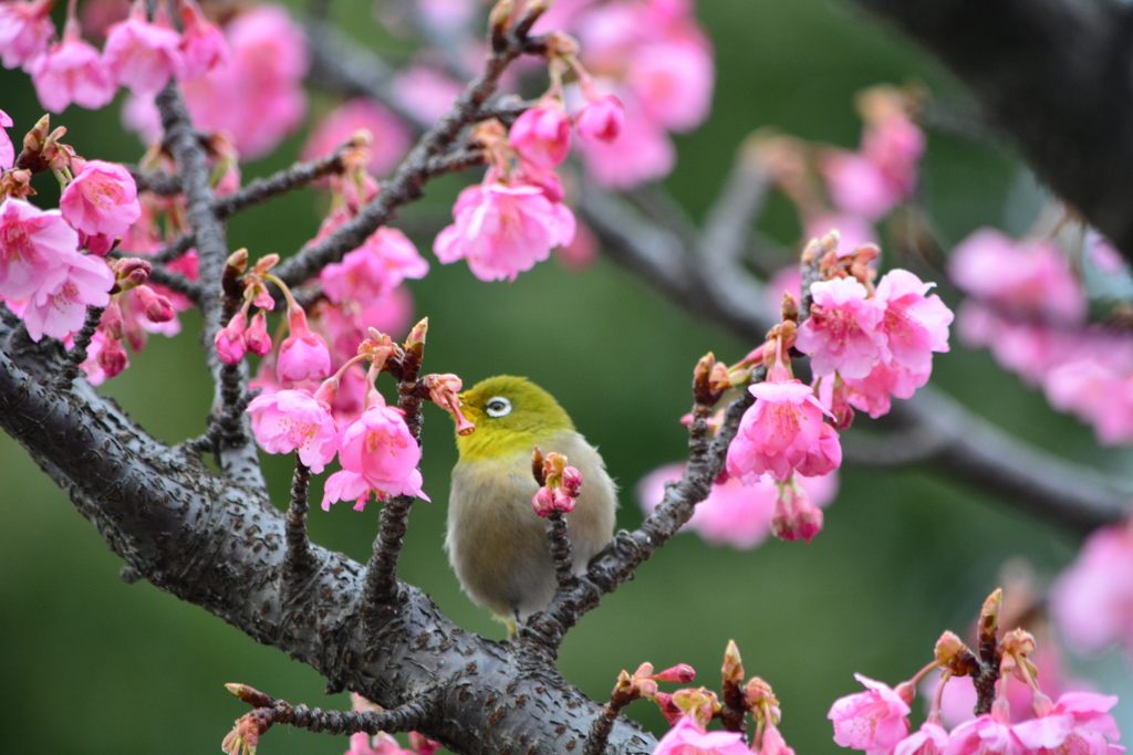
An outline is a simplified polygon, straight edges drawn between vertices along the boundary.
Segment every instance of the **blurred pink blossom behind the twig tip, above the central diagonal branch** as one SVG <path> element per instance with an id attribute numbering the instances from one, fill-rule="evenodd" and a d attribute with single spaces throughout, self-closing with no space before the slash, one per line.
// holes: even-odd
<path id="1" fill-rule="evenodd" d="M 367 170 L 375 177 L 385 175 L 409 152 L 412 135 L 404 123 L 374 100 L 350 100 L 327 114 L 307 139 L 303 158 L 325 157 L 355 131 L 364 129 L 370 134 Z"/>

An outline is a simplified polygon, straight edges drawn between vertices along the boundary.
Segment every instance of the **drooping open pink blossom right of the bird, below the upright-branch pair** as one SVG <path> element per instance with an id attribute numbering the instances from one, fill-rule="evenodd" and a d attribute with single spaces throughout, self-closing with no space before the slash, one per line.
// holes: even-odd
<path id="1" fill-rule="evenodd" d="M 748 391 L 756 403 L 727 448 L 730 475 L 750 483 L 766 473 L 786 482 L 795 471 L 820 477 L 842 464 L 838 434 L 823 421 L 826 410 L 809 386 L 783 370 Z"/>

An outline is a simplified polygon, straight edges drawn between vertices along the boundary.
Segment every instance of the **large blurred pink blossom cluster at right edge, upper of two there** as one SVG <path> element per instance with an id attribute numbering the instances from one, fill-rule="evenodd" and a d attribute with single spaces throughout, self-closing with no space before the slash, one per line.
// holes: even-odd
<path id="1" fill-rule="evenodd" d="M 1115 256 L 1100 239 L 1092 250 L 1105 266 Z M 964 343 L 1041 385 L 1055 409 L 1093 426 L 1098 443 L 1133 443 L 1133 338 L 1088 325 L 1085 290 L 1054 240 L 980 229 L 953 250 L 948 272 L 971 297 L 960 309 Z"/>

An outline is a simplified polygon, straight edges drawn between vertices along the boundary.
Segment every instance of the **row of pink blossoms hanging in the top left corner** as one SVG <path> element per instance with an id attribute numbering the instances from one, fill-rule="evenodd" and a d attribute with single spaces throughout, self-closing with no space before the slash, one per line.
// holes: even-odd
<path id="1" fill-rule="evenodd" d="M 178 0 L 184 33 L 178 33 L 159 5 L 151 22 L 145 2 L 136 0 L 129 16 L 107 29 L 100 54 L 83 38 L 74 0 L 67 7 L 62 38 L 49 16 L 54 0 L 11 0 L 0 5 L 0 59 L 6 68 L 32 75 L 44 108 L 62 112 L 71 103 L 97 110 L 114 98 L 119 86 L 152 95 L 171 78 L 189 81 L 228 58 L 224 35 L 205 19 L 194 0 Z"/>

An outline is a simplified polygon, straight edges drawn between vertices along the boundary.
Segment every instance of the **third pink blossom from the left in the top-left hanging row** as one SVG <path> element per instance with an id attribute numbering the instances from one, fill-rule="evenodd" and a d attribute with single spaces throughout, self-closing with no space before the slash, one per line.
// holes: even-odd
<path id="1" fill-rule="evenodd" d="M 181 35 L 151 24 L 135 0 L 129 17 L 107 31 L 102 59 L 111 76 L 134 94 L 155 94 L 181 71 Z"/>

